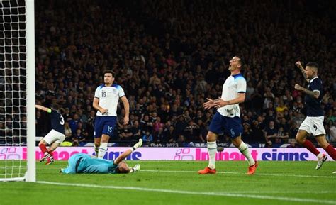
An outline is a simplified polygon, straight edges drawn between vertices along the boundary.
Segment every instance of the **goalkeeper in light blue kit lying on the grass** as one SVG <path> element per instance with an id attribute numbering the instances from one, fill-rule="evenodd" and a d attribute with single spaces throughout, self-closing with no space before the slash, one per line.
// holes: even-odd
<path id="1" fill-rule="evenodd" d="M 137 172 L 140 170 L 140 165 L 130 168 L 123 160 L 141 145 L 142 139 L 114 161 L 91 158 L 91 155 L 83 153 L 74 154 L 69 158 L 67 168 L 61 169 L 60 172 L 65 174 L 128 174 Z"/>

